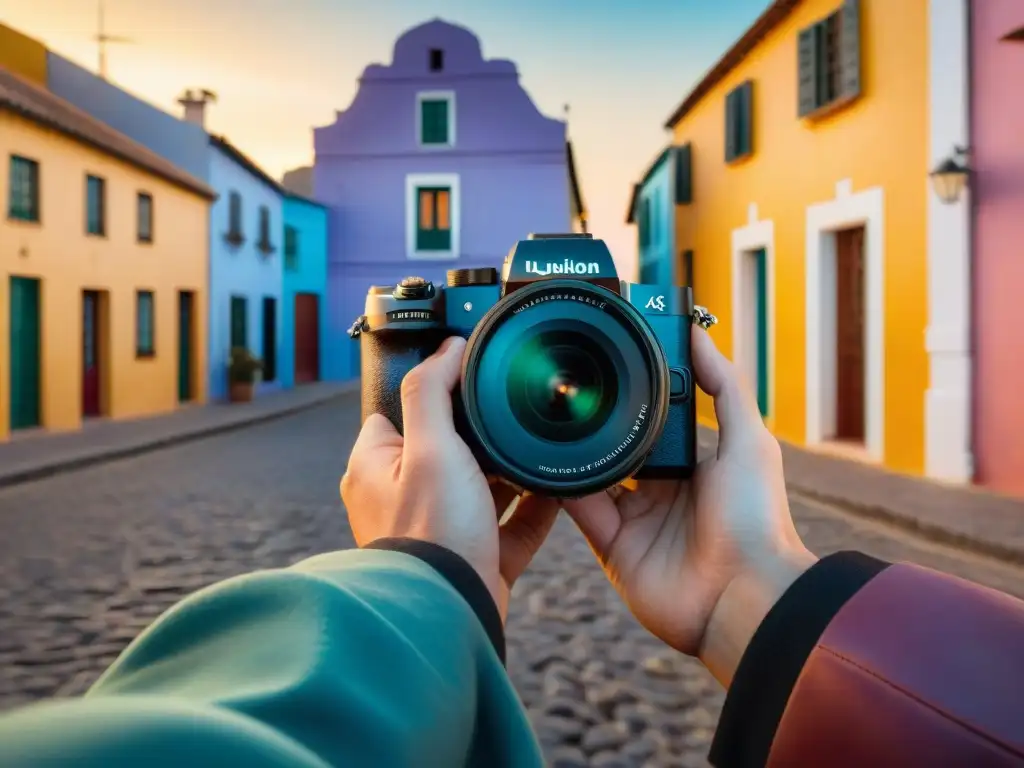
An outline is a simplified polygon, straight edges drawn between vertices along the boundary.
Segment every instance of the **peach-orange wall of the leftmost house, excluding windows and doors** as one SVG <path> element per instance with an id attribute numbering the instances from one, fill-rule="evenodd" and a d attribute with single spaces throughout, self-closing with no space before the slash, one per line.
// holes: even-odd
<path id="1" fill-rule="evenodd" d="M 177 406 L 177 291 L 196 292 L 195 379 L 206 397 L 207 201 L 87 148 L 35 123 L 0 112 L 0 157 L 40 163 L 42 223 L 0 220 L 0 435 L 10 417 L 9 275 L 40 278 L 42 420 L 54 430 L 77 428 L 82 402 L 82 290 L 108 292 L 108 414 L 115 419 L 158 414 Z M 84 177 L 106 179 L 109 237 L 84 233 Z M 155 240 L 136 243 L 136 194 L 154 197 Z M 8 184 L 0 184 L 7 210 Z M 173 222 L 173 223 L 172 223 Z M 156 356 L 135 357 L 135 291 L 156 294 Z"/>

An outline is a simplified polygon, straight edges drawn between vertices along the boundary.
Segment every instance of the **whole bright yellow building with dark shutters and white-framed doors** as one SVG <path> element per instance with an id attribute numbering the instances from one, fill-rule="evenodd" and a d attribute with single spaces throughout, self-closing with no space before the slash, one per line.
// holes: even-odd
<path id="1" fill-rule="evenodd" d="M 667 123 L 692 190 L 675 253 L 769 427 L 950 479 L 970 473 L 967 299 L 929 274 L 966 273 L 966 250 L 936 242 L 966 218 L 928 173 L 966 138 L 959 5 L 777 0 Z M 698 414 L 714 424 L 703 395 Z"/>

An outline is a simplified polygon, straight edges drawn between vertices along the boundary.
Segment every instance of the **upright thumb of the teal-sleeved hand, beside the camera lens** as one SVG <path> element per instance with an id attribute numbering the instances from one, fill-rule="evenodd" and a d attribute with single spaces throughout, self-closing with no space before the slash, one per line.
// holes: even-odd
<path id="1" fill-rule="evenodd" d="M 401 418 L 409 443 L 433 445 L 441 437 L 455 436 L 452 390 L 462 373 L 465 348 L 465 339 L 452 336 L 401 380 Z"/>

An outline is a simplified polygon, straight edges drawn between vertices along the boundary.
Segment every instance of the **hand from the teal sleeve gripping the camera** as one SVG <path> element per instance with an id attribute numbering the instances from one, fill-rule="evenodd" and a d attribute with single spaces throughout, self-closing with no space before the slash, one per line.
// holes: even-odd
<path id="1" fill-rule="evenodd" d="M 341 498 L 359 547 L 385 538 L 440 545 L 483 580 L 501 612 L 509 592 L 541 548 L 558 514 L 554 500 L 527 495 L 499 525 L 516 492 L 488 482 L 455 430 L 452 390 L 466 342 L 446 339 L 401 382 L 404 436 L 372 415 L 352 446 Z"/>

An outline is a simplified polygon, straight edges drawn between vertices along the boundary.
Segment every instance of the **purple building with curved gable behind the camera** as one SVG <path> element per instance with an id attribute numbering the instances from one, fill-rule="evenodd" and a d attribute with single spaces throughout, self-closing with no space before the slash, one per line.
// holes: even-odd
<path id="1" fill-rule="evenodd" d="M 358 376 L 344 332 L 372 285 L 501 265 L 529 232 L 586 226 L 565 123 L 512 61 L 434 19 L 370 65 L 352 103 L 313 131 L 313 195 L 330 208 L 326 378 Z"/>

